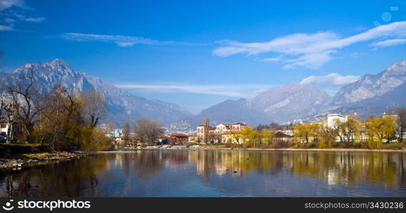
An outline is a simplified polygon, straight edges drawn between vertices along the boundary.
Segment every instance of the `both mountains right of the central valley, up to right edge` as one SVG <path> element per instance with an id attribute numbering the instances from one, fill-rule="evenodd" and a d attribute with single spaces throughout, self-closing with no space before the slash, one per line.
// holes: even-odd
<path id="1" fill-rule="evenodd" d="M 244 121 L 251 126 L 272 121 L 311 121 L 328 113 L 357 113 L 365 118 L 380 116 L 397 107 L 406 107 L 406 60 L 377 75 L 364 75 L 358 81 L 344 85 L 333 97 L 311 84 L 286 84 L 262 92 L 250 101 L 221 102 L 180 125 L 202 124 L 206 115 L 214 124 Z"/>

